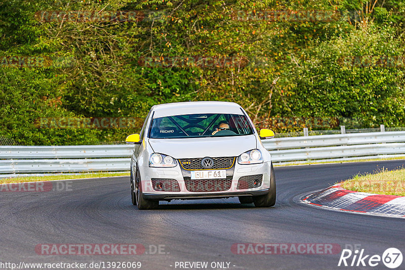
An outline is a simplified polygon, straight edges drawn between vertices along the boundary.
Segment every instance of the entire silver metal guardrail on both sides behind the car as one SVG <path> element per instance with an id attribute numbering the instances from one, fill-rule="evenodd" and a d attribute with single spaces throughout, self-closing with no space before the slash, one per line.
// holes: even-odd
<path id="1" fill-rule="evenodd" d="M 405 131 L 275 138 L 264 140 L 263 145 L 279 164 L 405 156 Z M 6 173 L 129 170 L 132 149 L 132 145 L 0 146 L 0 177 Z"/>

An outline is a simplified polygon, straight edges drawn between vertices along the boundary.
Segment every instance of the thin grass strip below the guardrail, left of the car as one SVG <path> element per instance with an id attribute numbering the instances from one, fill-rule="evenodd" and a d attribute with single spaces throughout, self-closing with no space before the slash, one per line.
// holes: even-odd
<path id="1" fill-rule="evenodd" d="M 130 174 L 129 174 L 129 172 L 86 172 L 86 173 L 78 173 L 78 174 L 59 173 L 59 174 L 55 174 L 55 175 L 46 175 L 46 176 L 25 176 L 25 177 L 2 178 L 2 179 L 0 179 L 0 184 L 35 182 L 35 181 L 52 181 L 52 180 L 62 180 L 62 179 L 110 177 L 110 176 L 120 176 L 120 175 L 129 176 Z"/>

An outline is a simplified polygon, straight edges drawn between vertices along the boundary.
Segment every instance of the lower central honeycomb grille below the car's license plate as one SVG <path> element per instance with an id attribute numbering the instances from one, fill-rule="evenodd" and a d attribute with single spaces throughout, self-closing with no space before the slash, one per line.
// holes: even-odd
<path id="1" fill-rule="evenodd" d="M 201 179 L 189 180 L 184 179 L 186 189 L 189 192 L 217 192 L 226 191 L 231 188 L 232 176 L 225 179 Z"/>

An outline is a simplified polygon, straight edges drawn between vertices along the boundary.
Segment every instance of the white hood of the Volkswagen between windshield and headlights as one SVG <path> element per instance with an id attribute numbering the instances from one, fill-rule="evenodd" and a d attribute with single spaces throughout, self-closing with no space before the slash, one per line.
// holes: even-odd
<path id="1" fill-rule="evenodd" d="M 187 139 L 149 139 L 155 153 L 173 158 L 237 157 L 256 148 L 254 135 Z"/>

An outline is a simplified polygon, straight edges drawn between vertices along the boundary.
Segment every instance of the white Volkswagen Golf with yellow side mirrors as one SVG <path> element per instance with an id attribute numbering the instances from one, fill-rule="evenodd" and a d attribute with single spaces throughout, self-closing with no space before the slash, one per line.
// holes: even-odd
<path id="1" fill-rule="evenodd" d="M 153 106 L 131 158 L 132 203 L 154 209 L 159 201 L 238 197 L 257 207 L 275 204 L 275 177 L 269 152 L 236 103 L 200 101 Z"/>

